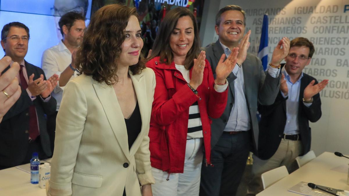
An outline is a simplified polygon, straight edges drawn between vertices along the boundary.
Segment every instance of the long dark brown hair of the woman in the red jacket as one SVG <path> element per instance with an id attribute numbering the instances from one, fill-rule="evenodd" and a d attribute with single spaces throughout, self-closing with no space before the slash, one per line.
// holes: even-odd
<path id="1" fill-rule="evenodd" d="M 183 16 L 189 16 L 194 25 L 194 42 L 192 48 L 190 48 L 186 55 L 184 66 L 186 69 L 190 69 L 194 65 L 193 60 L 198 57 L 201 46 L 198 24 L 196 23 L 194 14 L 188 8 L 184 7 L 171 9 L 170 12 L 166 14 L 160 24 L 159 31 L 154 41 L 153 51 L 149 59 L 160 56 L 160 62 L 166 63 L 167 65 L 172 63 L 173 53 L 170 47 L 170 37 L 172 31 L 177 26 L 178 19 Z"/>

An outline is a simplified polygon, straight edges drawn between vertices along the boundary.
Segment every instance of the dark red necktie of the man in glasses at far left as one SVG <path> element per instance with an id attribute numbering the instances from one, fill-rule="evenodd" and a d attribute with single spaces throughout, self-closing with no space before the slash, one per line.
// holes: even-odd
<path id="1" fill-rule="evenodd" d="M 27 89 L 28 84 L 23 75 L 23 65 L 21 65 L 21 68 L 20 68 L 20 79 L 21 79 L 21 85 L 23 89 Z M 36 117 L 35 106 L 31 105 L 29 107 L 29 137 L 32 138 L 32 140 L 35 140 L 38 135 L 39 135 L 39 127 L 38 127 L 38 121 Z"/>

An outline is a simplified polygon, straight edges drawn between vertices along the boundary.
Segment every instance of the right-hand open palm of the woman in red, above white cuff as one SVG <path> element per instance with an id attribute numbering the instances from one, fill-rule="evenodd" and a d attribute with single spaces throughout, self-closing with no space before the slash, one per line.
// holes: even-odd
<path id="1" fill-rule="evenodd" d="M 220 84 L 225 84 L 226 78 L 234 69 L 236 62 L 238 61 L 239 48 L 233 48 L 230 55 L 225 59 L 225 54 L 222 54 L 216 67 L 216 81 Z M 246 58 L 246 56 L 245 56 Z"/>

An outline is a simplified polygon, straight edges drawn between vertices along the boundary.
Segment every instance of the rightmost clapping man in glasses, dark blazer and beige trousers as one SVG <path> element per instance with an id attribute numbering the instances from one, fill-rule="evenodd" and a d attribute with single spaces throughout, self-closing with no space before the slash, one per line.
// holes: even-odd
<path id="1" fill-rule="evenodd" d="M 328 80 L 320 83 L 303 73 L 314 54 L 314 46 L 303 37 L 290 43 L 290 52 L 285 64 L 281 65 L 281 85 L 272 105 L 259 105 L 258 153 L 253 154 L 252 175 L 248 193 L 257 194 L 263 190 L 261 174 L 271 169 L 286 166 L 291 173 L 298 168 L 296 157 L 310 151 L 310 122 L 321 117 L 319 92 Z"/>

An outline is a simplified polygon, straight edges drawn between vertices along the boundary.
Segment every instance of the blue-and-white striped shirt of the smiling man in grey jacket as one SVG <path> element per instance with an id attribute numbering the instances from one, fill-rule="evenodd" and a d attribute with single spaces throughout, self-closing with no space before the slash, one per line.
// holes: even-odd
<path id="1" fill-rule="evenodd" d="M 231 50 L 224 44 L 221 43 L 221 45 L 225 55 L 229 56 Z M 243 69 L 240 69 L 239 66 L 235 66 L 232 72 L 236 76 L 236 79 L 234 80 L 235 102 L 233 108 L 231 109 L 229 120 L 224 131 L 248 131 L 251 129 L 251 116 L 248 111 L 244 92 L 244 71 Z M 273 67 L 268 68 L 268 73 L 274 78 L 278 77 L 280 74 L 279 69 Z"/>

